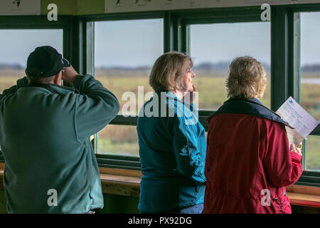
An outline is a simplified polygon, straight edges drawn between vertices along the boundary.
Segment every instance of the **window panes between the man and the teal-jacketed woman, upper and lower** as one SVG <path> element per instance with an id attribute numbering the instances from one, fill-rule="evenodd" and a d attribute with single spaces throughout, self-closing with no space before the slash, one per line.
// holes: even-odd
<path id="1" fill-rule="evenodd" d="M 149 73 L 164 50 L 163 27 L 163 19 L 95 22 L 95 78 L 117 96 L 120 114 L 137 115 L 146 93 L 153 91 Z M 142 87 L 138 96 L 139 86 Z M 130 94 L 134 96 L 128 97 Z M 130 101 L 134 107 L 128 108 L 125 104 Z M 111 135 L 117 132 L 122 140 L 111 140 L 106 129 L 112 129 Z M 137 130 L 130 126 L 107 126 L 99 134 L 97 151 L 139 156 Z"/>

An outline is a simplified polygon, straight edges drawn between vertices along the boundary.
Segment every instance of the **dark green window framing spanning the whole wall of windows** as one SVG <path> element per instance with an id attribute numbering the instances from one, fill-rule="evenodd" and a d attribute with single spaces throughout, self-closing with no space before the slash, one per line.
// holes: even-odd
<path id="1" fill-rule="evenodd" d="M 299 20 L 298 12 L 320 11 L 320 4 L 294 4 L 271 6 L 271 109 L 277 110 L 292 95 L 299 98 Z M 230 7 L 218 9 L 185 9 L 174 11 L 150 11 L 119 14 L 95 14 L 87 16 L 59 16 L 58 21 L 48 21 L 46 16 L 0 16 L 0 29 L 62 28 L 63 56 L 68 58 L 79 73 L 93 73 L 95 21 L 116 21 L 130 19 L 164 20 L 164 53 L 167 51 L 189 52 L 187 24 L 200 21 L 201 24 L 249 22 L 260 20 L 260 6 Z M 198 23 L 192 23 L 198 24 Z M 89 43 L 90 45 L 87 45 Z M 93 49 L 94 50 L 94 49 Z M 88 64 L 90 63 L 90 64 Z M 199 110 L 199 121 L 208 131 L 206 119 L 214 110 Z M 137 125 L 137 117 L 124 118 L 117 115 L 110 124 Z M 311 135 L 320 135 L 320 125 Z M 97 140 L 95 140 L 95 145 Z M 96 155 L 100 167 L 141 170 L 139 157 L 124 155 Z M 4 158 L 0 153 L 0 162 Z M 302 160 L 305 165 L 305 152 Z M 297 185 L 320 186 L 320 172 L 304 171 Z"/>

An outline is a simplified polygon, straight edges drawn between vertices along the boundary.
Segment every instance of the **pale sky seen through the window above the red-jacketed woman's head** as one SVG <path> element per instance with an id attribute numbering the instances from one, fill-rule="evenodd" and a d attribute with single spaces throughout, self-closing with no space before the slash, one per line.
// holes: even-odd
<path id="1" fill-rule="evenodd" d="M 252 56 L 270 64 L 270 22 L 191 26 L 191 56 L 201 62 L 231 62 Z"/>

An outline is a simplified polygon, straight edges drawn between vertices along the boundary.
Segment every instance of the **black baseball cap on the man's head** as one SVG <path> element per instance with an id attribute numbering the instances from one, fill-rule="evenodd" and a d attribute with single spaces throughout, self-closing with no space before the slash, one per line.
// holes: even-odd
<path id="1" fill-rule="evenodd" d="M 51 46 L 40 46 L 28 56 L 26 75 L 46 78 L 55 76 L 64 67 L 70 66 L 68 60 Z"/>

